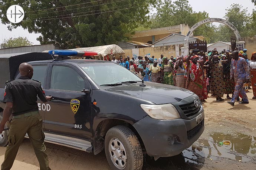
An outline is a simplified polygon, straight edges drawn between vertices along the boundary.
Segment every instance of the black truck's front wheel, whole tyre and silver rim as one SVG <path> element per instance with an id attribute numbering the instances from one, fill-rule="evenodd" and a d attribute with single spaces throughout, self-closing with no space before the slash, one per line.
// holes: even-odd
<path id="1" fill-rule="evenodd" d="M 143 153 L 138 137 L 127 126 L 114 126 L 105 137 L 105 154 L 113 170 L 141 170 Z"/>

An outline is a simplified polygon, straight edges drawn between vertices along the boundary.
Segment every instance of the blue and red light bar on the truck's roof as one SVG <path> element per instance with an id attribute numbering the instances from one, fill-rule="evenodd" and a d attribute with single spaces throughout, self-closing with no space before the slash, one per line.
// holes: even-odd
<path id="1" fill-rule="evenodd" d="M 51 55 L 59 56 L 97 56 L 97 52 L 92 51 L 75 51 L 75 50 L 50 50 L 48 52 Z"/>

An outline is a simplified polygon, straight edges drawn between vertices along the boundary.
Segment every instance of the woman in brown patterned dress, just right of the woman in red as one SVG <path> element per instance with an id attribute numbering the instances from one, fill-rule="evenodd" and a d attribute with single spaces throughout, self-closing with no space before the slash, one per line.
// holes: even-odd
<path id="1" fill-rule="evenodd" d="M 224 60 L 223 60 L 224 61 Z M 218 55 L 211 56 L 209 59 L 209 66 L 211 71 L 211 88 L 214 91 L 216 101 L 224 101 L 224 78 L 223 78 L 223 66 L 222 62 L 219 61 Z"/>

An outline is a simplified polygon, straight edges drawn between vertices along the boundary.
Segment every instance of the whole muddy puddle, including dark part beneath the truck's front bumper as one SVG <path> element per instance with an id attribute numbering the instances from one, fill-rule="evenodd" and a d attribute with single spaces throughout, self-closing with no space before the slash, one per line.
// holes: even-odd
<path id="1" fill-rule="evenodd" d="M 256 163 L 256 137 L 241 133 L 232 136 L 224 133 L 214 133 L 208 140 L 199 139 L 199 146 L 192 145 L 181 154 L 160 158 L 155 162 L 147 161 L 144 169 L 200 169 L 206 159 L 218 160 L 229 158 L 239 162 Z M 227 142 L 226 142 L 227 141 Z M 220 142 L 229 145 L 220 145 Z M 197 144 L 198 145 L 198 144 Z"/>

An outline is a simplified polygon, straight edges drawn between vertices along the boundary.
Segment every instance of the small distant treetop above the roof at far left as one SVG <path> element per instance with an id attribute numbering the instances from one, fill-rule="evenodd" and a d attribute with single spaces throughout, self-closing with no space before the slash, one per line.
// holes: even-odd
<path id="1" fill-rule="evenodd" d="M 22 47 L 29 45 L 33 45 L 33 43 L 27 40 L 27 37 L 18 37 L 4 39 L 3 43 L 0 44 L 0 48 Z"/>

